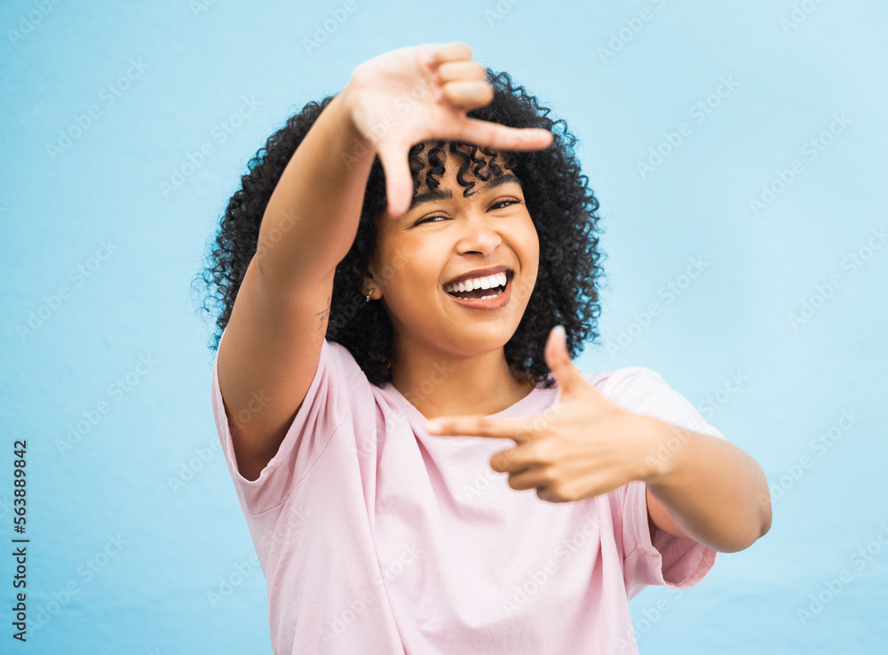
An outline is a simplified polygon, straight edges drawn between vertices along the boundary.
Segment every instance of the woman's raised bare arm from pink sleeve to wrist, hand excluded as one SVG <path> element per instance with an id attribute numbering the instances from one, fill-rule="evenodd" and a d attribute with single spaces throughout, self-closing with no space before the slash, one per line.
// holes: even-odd
<path id="1" fill-rule="evenodd" d="M 361 138 L 348 93 L 324 108 L 274 188 L 219 344 L 219 388 L 248 480 L 274 457 L 305 399 L 327 331 L 333 271 L 357 232 L 374 153 L 342 164 L 340 153 Z"/>

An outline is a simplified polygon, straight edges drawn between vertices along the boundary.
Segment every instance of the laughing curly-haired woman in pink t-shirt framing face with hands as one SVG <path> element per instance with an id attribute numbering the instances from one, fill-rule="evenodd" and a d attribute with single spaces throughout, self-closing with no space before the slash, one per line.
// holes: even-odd
<path id="1" fill-rule="evenodd" d="M 550 114 L 464 44 L 387 52 L 229 202 L 211 399 L 275 652 L 637 652 L 633 595 L 766 531 L 760 467 L 654 371 L 573 367 L 598 201 Z"/>

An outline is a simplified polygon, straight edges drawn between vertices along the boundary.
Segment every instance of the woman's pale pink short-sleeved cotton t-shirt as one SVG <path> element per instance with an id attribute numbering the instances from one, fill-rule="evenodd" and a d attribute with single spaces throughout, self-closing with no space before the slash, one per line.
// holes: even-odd
<path id="1" fill-rule="evenodd" d="M 586 379 L 630 411 L 724 438 L 654 371 Z M 496 416 L 532 416 L 556 393 L 537 387 Z M 212 407 L 276 655 L 638 653 L 629 599 L 693 587 L 716 560 L 694 541 L 651 538 L 641 481 L 570 503 L 511 489 L 488 459 L 514 442 L 426 434 L 416 407 L 334 342 L 258 480 L 237 470 L 218 352 Z"/>

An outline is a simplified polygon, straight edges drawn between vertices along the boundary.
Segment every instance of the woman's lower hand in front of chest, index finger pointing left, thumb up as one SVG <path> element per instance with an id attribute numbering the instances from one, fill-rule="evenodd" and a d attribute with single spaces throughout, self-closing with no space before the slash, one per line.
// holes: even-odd
<path id="1" fill-rule="evenodd" d="M 652 475 L 646 457 L 654 449 L 646 417 L 611 403 L 583 378 L 567 353 L 563 328 L 550 332 L 545 356 L 559 386 L 559 398 L 548 410 L 523 419 L 440 417 L 429 421 L 428 433 L 514 440 L 514 448 L 491 456 L 490 467 L 508 473 L 512 489 L 536 489 L 550 502 L 646 481 Z"/>

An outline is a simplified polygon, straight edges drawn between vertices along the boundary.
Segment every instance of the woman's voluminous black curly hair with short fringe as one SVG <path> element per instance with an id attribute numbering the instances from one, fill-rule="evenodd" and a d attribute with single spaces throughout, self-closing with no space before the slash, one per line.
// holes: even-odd
<path id="1" fill-rule="evenodd" d="M 599 337 L 596 289 L 597 280 L 604 276 L 599 266 L 599 202 L 589 188 L 588 178 L 580 171 L 574 152 L 576 138 L 567 124 L 552 120 L 551 109 L 513 84 L 507 73 L 494 73 L 488 68 L 488 83 L 494 89 L 494 99 L 467 116 L 510 127 L 549 130 L 554 136 L 551 146 L 528 152 L 495 152 L 458 141 L 428 141 L 410 148 L 410 170 L 415 191 L 423 185 L 436 188 L 450 153 L 460 162 L 456 180 L 464 187 L 464 196 L 475 184 L 472 177 L 484 181 L 511 172 L 520 180 L 527 211 L 539 237 L 540 262 L 527 309 L 503 350 L 512 371 L 524 373 L 536 386 L 551 387 L 554 379 L 543 355 L 551 328 L 558 324 L 565 327 L 571 357 L 582 352 L 587 340 Z M 218 348 L 234 298 L 257 250 L 259 224 L 275 185 L 290 157 L 333 98 L 307 103 L 281 130 L 274 132 L 265 148 L 250 159 L 249 172 L 241 179 L 242 187 L 228 202 L 211 247 L 211 264 L 201 277 L 212 290 L 203 301 L 203 310 L 211 313 L 207 308 L 209 300 L 215 300 L 218 310 L 217 330 L 210 344 L 213 350 Z M 357 235 L 336 269 L 326 334 L 329 341 L 348 349 L 367 379 L 377 387 L 392 379 L 392 322 L 381 303 L 364 302 L 361 284 L 376 243 L 377 220 L 386 206 L 385 172 L 377 156 L 369 173 Z"/>

